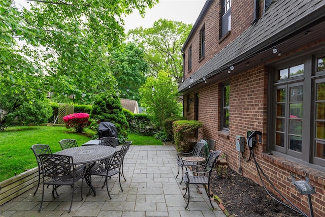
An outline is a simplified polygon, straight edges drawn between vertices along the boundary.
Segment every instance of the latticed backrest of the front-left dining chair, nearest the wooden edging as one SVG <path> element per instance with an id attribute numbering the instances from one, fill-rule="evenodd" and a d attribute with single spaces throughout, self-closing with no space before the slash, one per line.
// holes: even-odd
<path id="1" fill-rule="evenodd" d="M 60 154 L 40 154 L 43 177 L 74 177 L 73 159 Z"/>

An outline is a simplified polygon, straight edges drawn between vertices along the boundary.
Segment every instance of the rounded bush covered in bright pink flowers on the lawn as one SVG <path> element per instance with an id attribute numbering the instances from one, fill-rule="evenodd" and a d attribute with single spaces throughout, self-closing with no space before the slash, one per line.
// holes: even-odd
<path id="1" fill-rule="evenodd" d="M 62 117 L 63 121 L 66 122 L 66 127 L 74 128 L 77 133 L 82 133 L 83 128 L 90 125 L 88 118 L 89 114 L 87 113 L 74 113 Z"/>

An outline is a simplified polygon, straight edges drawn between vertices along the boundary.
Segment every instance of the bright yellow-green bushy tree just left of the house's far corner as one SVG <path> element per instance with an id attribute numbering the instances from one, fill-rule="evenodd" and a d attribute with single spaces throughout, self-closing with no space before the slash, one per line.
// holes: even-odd
<path id="1" fill-rule="evenodd" d="M 168 117 L 181 114 L 177 85 L 168 73 L 160 71 L 157 77 L 148 77 L 139 91 L 142 96 L 141 105 L 159 127 L 163 127 L 163 122 Z"/>

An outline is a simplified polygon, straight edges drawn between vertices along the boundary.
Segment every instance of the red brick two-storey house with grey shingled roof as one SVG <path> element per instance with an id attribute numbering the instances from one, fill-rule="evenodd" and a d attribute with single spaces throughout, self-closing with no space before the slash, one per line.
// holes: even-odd
<path id="1" fill-rule="evenodd" d="M 233 170 L 262 184 L 253 151 L 304 213 L 307 195 L 288 177 L 307 174 L 314 216 L 325 216 L 325 1 L 207 1 L 182 52 L 179 93 L 184 116 L 204 123 L 200 139 L 215 140 Z M 262 132 L 252 151 L 250 130 Z M 236 136 L 245 137 L 241 154 Z"/>

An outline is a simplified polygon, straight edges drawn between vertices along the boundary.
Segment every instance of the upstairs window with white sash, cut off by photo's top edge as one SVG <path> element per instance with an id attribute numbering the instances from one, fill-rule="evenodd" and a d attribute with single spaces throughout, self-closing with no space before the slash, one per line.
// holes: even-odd
<path id="1" fill-rule="evenodd" d="M 232 0 L 221 0 L 221 22 L 220 22 L 220 29 L 221 35 L 220 38 L 224 37 L 226 34 L 229 33 L 231 29 L 231 6 Z"/>

